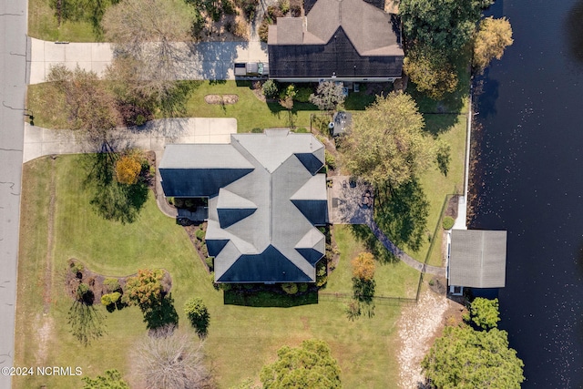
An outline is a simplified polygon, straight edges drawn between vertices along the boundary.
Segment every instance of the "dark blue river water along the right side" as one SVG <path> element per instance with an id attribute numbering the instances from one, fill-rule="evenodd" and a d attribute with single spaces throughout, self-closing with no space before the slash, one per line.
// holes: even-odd
<path id="1" fill-rule="evenodd" d="M 508 230 L 499 292 L 525 388 L 583 387 L 583 0 L 498 0 L 515 43 L 477 97 L 473 229 Z M 483 186 L 482 186 L 483 185 Z"/>

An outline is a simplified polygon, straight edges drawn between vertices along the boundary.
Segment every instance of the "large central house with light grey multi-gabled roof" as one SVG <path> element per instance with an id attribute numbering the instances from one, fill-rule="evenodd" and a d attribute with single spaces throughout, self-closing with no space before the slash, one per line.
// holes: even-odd
<path id="1" fill-rule="evenodd" d="M 324 147 L 312 134 L 233 134 L 230 144 L 169 145 L 167 197 L 208 197 L 216 282 L 315 282 L 328 220 Z"/>

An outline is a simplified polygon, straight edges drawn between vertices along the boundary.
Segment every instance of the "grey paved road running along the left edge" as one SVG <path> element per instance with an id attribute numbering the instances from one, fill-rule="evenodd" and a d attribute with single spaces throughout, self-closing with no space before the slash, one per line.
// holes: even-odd
<path id="1" fill-rule="evenodd" d="M 26 93 L 26 0 L 0 2 L 0 368 L 12 366 Z M 11 387 L 0 374 L 0 388 Z"/>

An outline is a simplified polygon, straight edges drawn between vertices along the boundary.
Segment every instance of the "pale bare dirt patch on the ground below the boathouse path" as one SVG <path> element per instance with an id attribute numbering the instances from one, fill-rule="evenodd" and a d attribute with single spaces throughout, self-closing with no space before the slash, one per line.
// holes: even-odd
<path id="1" fill-rule="evenodd" d="M 399 361 L 400 387 L 409 389 L 421 387 L 424 376 L 421 361 L 435 341 L 445 323 L 445 312 L 451 302 L 444 295 L 431 291 L 421 294 L 416 305 L 405 308 L 397 323 L 400 347 L 397 353 Z"/>

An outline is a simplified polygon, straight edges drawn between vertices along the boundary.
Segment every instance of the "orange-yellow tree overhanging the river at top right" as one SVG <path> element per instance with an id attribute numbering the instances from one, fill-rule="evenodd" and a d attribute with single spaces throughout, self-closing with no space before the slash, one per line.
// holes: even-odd
<path id="1" fill-rule="evenodd" d="M 506 17 L 486 17 L 480 22 L 474 43 L 474 67 L 483 71 L 492 59 L 500 59 L 507 46 L 512 45 L 512 26 Z"/>

